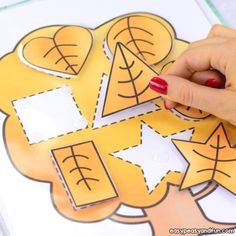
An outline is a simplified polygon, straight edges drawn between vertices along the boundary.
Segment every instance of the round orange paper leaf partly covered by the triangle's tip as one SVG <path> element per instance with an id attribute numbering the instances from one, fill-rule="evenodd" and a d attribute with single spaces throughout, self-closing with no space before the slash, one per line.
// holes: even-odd
<path id="1" fill-rule="evenodd" d="M 112 53 L 121 42 L 140 59 L 155 65 L 167 57 L 172 49 L 172 36 L 163 19 L 132 15 L 117 21 L 106 39 Z"/>

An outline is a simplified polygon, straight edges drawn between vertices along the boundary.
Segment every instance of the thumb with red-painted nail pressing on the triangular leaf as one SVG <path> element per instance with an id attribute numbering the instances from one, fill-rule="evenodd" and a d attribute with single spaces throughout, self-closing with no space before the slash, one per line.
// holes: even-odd
<path id="1" fill-rule="evenodd" d="M 198 108 L 219 116 L 222 108 L 227 104 L 227 95 L 224 89 L 210 88 L 196 84 L 187 79 L 161 75 L 150 81 L 150 88 L 171 101 Z"/>

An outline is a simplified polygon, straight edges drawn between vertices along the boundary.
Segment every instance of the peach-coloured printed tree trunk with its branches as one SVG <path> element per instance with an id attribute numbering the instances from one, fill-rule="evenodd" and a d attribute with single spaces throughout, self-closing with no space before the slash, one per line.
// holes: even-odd
<path id="1" fill-rule="evenodd" d="M 235 223 L 220 223 L 210 220 L 198 203 L 216 188 L 216 184 L 211 183 L 202 191 L 193 194 L 188 190 L 179 191 L 177 186 L 170 184 L 168 193 L 163 199 L 157 204 L 143 208 L 142 215 L 121 214 L 118 209 L 118 212 L 112 215 L 111 219 L 123 224 L 149 223 L 153 236 L 171 235 L 171 229 L 173 235 L 206 235 L 206 230 L 211 234 L 213 229 L 217 229 L 217 233 L 226 232 L 223 230 L 235 228 Z M 191 234 L 188 229 L 191 230 Z"/>

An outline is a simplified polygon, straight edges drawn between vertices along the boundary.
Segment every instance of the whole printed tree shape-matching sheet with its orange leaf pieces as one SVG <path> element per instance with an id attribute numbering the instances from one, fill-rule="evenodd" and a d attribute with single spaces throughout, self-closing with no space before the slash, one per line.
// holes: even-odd
<path id="1" fill-rule="evenodd" d="M 148 87 L 211 27 L 182 2 L 41 1 L 0 15 L 0 193 L 15 235 L 236 226 L 236 129 L 167 111 Z"/>

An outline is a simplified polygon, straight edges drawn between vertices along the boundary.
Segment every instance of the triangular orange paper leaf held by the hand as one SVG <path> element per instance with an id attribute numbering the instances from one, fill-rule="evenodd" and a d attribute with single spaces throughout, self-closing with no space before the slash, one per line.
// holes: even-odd
<path id="1" fill-rule="evenodd" d="M 102 116 L 135 107 L 159 98 L 149 88 L 157 73 L 121 43 L 117 44 Z"/>

